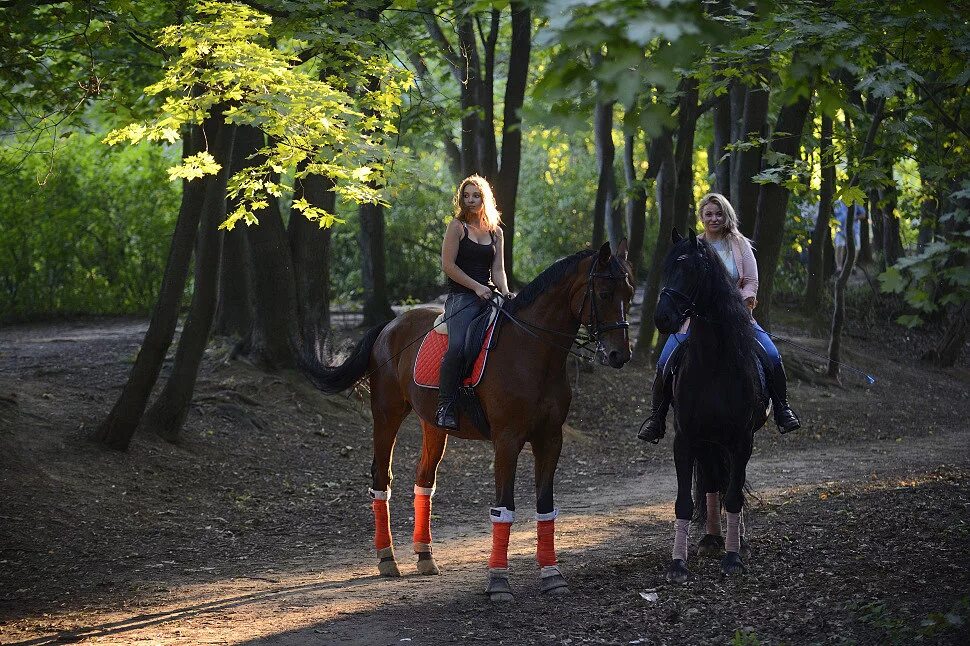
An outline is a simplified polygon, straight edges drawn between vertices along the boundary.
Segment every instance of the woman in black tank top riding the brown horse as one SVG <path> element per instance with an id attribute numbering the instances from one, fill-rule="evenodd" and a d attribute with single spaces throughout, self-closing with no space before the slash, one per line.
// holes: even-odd
<path id="1" fill-rule="evenodd" d="M 495 208 L 492 189 L 485 178 L 472 175 L 462 181 L 454 199 L 455 218 L 441 243 L 441 268 L 448 277 L 448 350 L 441 360 L 438 411 L 435 424 L 456 430 L 455 394 L 462 345 L 469 323 L 487 307 L 495 289 L 508 294 L 503 260 L 501 214 Z"/>

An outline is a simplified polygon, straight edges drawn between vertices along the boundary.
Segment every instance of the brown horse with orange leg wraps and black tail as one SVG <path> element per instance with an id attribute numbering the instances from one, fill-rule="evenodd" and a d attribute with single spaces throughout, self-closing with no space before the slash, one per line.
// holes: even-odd
<path id="1" fill-rule="evenodd" d="M 536 560 L 540 590 L 553 595 L 568 592 L 556 561 L 554 534 L 558 510 L 553 505 L 553 477 L 562 449 L 572 390 L 566 359 L 580 325 L 596 340 L 601 363 L 621 368 L 630 360 L 626 313 L 633 298 L 633 269 L 627 261 L 626 240 L 616 255 L 609 243 L 599 251 L 584 250 L 555 262 L 505 306 L 506 320 L 489 351 L 488 364 L 476 394 L 491 428 L 495 451 L 495 506 L 492 551 L 488 559 L 486 592 L 493 601 L 510 601 L 508 583 L 509 531 L 515 520 L 516 463 L 526 442 L 535 457 Z M 434 426 L 438 394 L 414 383 L 418 352 L 416 339 L 434 327 L 440 309 L 417 308 L 369 330 L 351 355 L 338 366 L 326 366 L 314 356 L 303 358 L 302 369 L 326 393 L 353 386 L 365 374 L 370 383 L 374 416 L 374 459 L 371 466 L 374 547 L 383 576 L 400 576 L 391 540 L 387 501 L 391 495 L 392 453 L 401 422 L 412 410 L 421 419 L 421 460 L 414 485 L 414 552 L 421 574 L 438 574 L 431 552 L 431 496 L 435 474 L 448 435 L 485 440 L 467 415 L 457 431 Z M 504 316 L 500 313 L 500 316 Z"/>

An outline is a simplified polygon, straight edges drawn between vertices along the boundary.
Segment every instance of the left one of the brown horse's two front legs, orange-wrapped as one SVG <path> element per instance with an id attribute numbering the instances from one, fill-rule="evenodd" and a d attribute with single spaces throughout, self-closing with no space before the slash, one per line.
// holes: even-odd
<path id="1" fill-rule="evenodd" d="M 492 521 L 492 553 L 488 557 L 488 586 L 492 601 L 511 601 L 509 586 L 509 534 L 515 521 L 515 467 L 523 441 L 496 433 L 495 507 L 489 510 Z"/>

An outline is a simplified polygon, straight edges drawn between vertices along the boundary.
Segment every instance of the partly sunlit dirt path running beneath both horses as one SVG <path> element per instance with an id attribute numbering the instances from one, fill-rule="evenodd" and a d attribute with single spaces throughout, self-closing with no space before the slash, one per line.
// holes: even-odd
<path id="1" fill-rule="evenodd" d="M 907 465 L 900 470 L 900 465 Z M 757 483 L 755 507 L 777 503 L 787 496 L 826 487 L 842 488 L 872 482 L 893 482 L 924 474 L 941 465 L 970 468 L 970 447 L 959 433 L 932 435 L 902 442 L 882 441 L 864 445 L 818 447 L 791 455 L 762 459 L 751 464 L 749 478 Z M 593 492 L 567 492 L 560 496 L 557 547 L 568 575 L 590 562 L 636 558 L 644 552 L 667 554 L 667 528 L 672 519 L 675 482 L 672 468 L 653 467 L 639 478 L 615 483 Z M 521 513 L 521 512 L 520 512 Z M 537 602 L 532 560 L 532 523 L 527 514 L 513 532 L 510 560 L 513 584 L 520 601 Z M 757 517 L 757 516 L 756 516 Z M 759 520 L 749 532 L 757 544 Z M 167 591 L 136 613 L 93 611 L 73 614 L 72 629 L 45 631 L 34 622 L 35 637 L 11 644 L 48 644 L 65 641 L 91 643 L 224 644 L 253 643 L 297 645 L 307 643 L 436 644 L 453 643 L 447 630 L 450 620 L 437 616 L 437 634 L 418 633 L 407 620 L 409 613 L 435 613 L 456 599 L 494 611 L 484 595 L 484 556 L 489 548 L 483 522 L 435 526 L 435 554 L 442 569 L 439 577 L 413 572 L 407 536 L 397 536 L 399 559 L 405 576 L 375 576 L 369 553 L 340 550 L 321 559 L 306 559 L 299 570 L 280 572 L 272 561 L 250 563 L 250 577 L 218 584 L 187 586 Z M 757 558 L 751 568 L 769 568 Z M 646 574 L 643 588 L 658 584 L 661 571 Z M 710 573 L 708 573 L 710 576 Z M 629 590 L 628 594 L 636 594 Z M 581 611 L 568 599 L 538 600 L 558 604 L 563 612 Z M 520 609 L 522 605 L 517 603 Z M 516 606 L 508 610 L 516 613 Z M 396 621 L 389 621 L 394 610 Z M 431 617 L 425 615 L 425 621 Z M 20 637 L 26 637 L 21 633 Z M 541 640 L 538 634 L 525 641 Z M 632 642 L 631 642 L 632 643 Z"/>

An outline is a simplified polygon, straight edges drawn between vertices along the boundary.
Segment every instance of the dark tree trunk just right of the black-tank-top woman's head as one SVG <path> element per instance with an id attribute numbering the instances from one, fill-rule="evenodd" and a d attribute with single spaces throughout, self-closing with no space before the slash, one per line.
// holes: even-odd
<path id="1" fill-rule="evenodd" d="M 505 274 L 509 284 L 518 284 L 512 250 L 515 246 L 515 202 L 519 193 L 522 163 L 522 116 L 529 55 L 532 50 L 532 11 L 522 2 L 512 3 L 512 37 L 509 71 L 505 79 L 505 108 L 502 115 L 502 165 L 498 174 L 498 201 L 505 230 Z"/>

